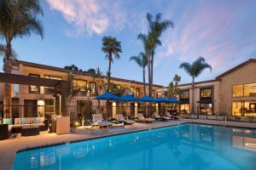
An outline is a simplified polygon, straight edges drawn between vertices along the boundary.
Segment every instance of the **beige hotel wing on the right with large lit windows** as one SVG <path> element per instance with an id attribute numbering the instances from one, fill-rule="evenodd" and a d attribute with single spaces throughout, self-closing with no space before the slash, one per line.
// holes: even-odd
<path id="1" fill-rule="evenodd" d="M 191 113 L 194 105 L 194 113 L 201 115 L 256 116 L 256 59 L 248 59 L 213 80 L 195 82 L 194 104 L 191 83 L 178 88 L 182 114 Z M 167 90 L 158 90 L 159 96 Z"/>

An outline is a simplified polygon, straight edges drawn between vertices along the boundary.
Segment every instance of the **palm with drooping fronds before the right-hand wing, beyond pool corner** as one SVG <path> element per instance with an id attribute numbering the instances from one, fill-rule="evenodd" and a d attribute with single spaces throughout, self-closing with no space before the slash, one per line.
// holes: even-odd
<path id="1" fill-rule="evenodd" d="M 199 57 L 198 59 L 195 59 L 195 61 L 192 64 L 189 64 L 188 62 L 183 62 L 181 65 L 179 65 L 179 68 L 186 71 L 190 77 L 192 77 L 192 101 L 191 101 L 191 113 L 194 114 L 194 89 L 195 89 L 195 77 L 198 77 L 202 71 L 205 69 L 210 69 L 212 71 L 212 66 L 207 64 L 206 60 L 203 57 Z M 198 117 L 197 113 L 197 117 Z"/>

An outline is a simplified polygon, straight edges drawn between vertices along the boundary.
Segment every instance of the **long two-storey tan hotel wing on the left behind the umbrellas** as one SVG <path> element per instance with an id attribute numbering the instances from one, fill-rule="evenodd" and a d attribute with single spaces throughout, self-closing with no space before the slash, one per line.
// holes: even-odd
<path id="1" fill-rule="evenodd" d="M 93 81 L 93 77 L 88 72 L 80 71 L 69 71 L 60 67 L 40 65 L 36 63 L 26 62 L 17 60 L 16 65 L 13 66 L 12 74 L 24 75 L 30 77 L 43 77 L 55 80 L 67 81 L 69 72 L 73 74 L 73 88 L 79 90 L 79 93 L 74 96 L 68 102 L 68 112 L 69 114 L 82 114 L 82 112 L 88 109 L 88 105 L 96 108 L 98 106 L 98 101 L 96 97 L 96 83 L 107 83 L 108 77 L 102 76 L 99 79 Z M 111 83 L 116 84 L 117 88 L 129 88 L 130 94 L 135 95 L 140 98 L 143 97 L 143 82 L 137 82 L 117 77 L 111 77 Z M 0 105 L 3 105 L 3 93 L 4 93 L 4 83 L 0 83 Z M 90 88 L 90 92 L 88 89 Z M 163 86 L 154 85 L 153 86 L 153 96 L 156 95 L 156 91 Z M 98 89 L 98 94 L 102 94 L 103 89 Z M 148 94 L 148 92 L 146 92 Z M 53 114 L 60 105 L 60 99 L 53 97 L 54 88 L 50 87 L 39 87 L 34 85 L 12 85 L 12 115 L 13 117 L 34 117 L 34 116 L 45 116 L 45 114 Z M 106 103 L 101 101 L 101 105 L 105 106 Z M 125 112 L 133 116 L 132 114 L 137 114 L 140 110 L 139 103 L 115 103 L 110 102 L 108 108 L 109 116 L 114 116 L 117 114 L 117 110 L 125 110 Z M 126 107 L 129 106 L 129 107 Z M 128 109 L 129 108 L 129 109 Z M 57 111 L 56 114 L 61 114 Z"/>

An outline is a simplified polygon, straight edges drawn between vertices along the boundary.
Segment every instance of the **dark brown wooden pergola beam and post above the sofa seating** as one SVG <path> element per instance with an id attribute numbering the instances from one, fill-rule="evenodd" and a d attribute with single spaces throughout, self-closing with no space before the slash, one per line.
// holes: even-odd
<path id="1" fill-rule="evenodd" d="M 67 81 L 41 78 L 41 77 L 29 77 L 29 76 L 0 72 L 0 82 L 55 88 L 55 95 L 56 94 L 61 95 L 61 115 L 63 116 L 67 115 L 67 107 L 66 107 Z"/>

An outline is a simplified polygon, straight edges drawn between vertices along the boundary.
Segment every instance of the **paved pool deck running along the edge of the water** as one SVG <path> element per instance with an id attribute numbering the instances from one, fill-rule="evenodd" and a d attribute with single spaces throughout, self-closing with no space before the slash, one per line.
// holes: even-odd
<path id="1" fill-rule="evenodd" d="M 69 134 L 57 135 L 55 133 L 41 132 L 40 135 L 31 137 L 21 137 L 20 134 L 11 139 L 0 141 L 0 169 L 12 169 L 15 160 L 15 154 L 19 150 L 44 147 L 54 144 L 65 144 L 67 142 L 96 139 L 121 133 L 132 133 L 149 128 L 173 126 L 186 122 L 204 123 L 231 127 L 250 127 L 256 128 L 256 123 L 252 122 L 225 122 L 202 120 L 202 119 L 183 119 L 180 121 L 153 122 L 153 123 L 136 123 L 133 126 L 114 126 L 108 129 L 108 132 L 100 129 L 92 131 L 88 127 L 73 128 Z"/>

